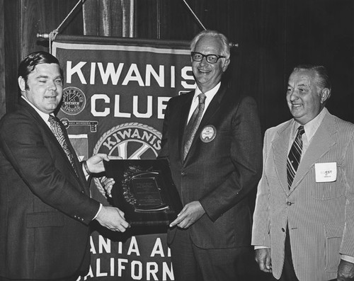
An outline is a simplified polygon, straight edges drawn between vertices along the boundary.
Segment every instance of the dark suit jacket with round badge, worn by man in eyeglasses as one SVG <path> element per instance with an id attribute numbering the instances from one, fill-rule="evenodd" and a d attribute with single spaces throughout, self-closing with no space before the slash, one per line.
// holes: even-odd
<path id="1" fill-rule="evenodd" d="M 262 143 L 256 102 L 222 85 L 202 117 L 183 162 L 183 132 L 194 91 L 171 98 L 164 119 L 159 157 L 170 161 L 183 205 L 199 200 L 206 214 L 190 226 L 200 248 L 250 245 L 251 215 L 246 195 L 261 177 Z M 200 132 L 214 126 L 216 137 L 202 142 Z M 168 242 L 173 242 L 169 231 Z"/>

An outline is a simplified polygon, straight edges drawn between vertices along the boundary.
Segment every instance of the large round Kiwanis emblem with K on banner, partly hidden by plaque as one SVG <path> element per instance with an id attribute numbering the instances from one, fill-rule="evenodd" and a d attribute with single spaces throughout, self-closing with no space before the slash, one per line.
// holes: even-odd
<path id="1" fill-rule="evenodd" d="M 115 126 L 105 132 L 93 154 L 105 153 L 122 159 L 156 159 L 161 149 L 161 133 L 148 125 L 130 122 Z M 98 178 L 94 178 L 98 189 L 102 188 Z"/>

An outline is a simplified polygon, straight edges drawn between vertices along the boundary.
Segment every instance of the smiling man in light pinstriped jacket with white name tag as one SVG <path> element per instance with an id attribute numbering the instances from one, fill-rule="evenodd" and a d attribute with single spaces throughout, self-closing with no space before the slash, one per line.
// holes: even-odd
<path id="1" fill-rule="evenodd" d="M 277 280 L 354 280 L 354 125 L 329 113 L 330 96 L 325 67 L 295 67 L 293 118 L 265 132 L 252 244 Z"/>

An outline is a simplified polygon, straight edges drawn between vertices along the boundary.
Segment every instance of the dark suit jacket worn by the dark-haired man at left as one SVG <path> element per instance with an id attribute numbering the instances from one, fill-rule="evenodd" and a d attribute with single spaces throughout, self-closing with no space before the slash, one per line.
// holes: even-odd
<path id="1" fill-rule="evenodd" d="M 50 280 L 89 267 L 99 203 L 74 158 L 79 177 L 25 101 L 0 121 L 0 276 Z"/>

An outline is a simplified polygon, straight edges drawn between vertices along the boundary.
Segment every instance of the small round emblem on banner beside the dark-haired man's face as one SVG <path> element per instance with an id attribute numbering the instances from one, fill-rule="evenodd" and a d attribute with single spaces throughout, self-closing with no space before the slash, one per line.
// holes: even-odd
<path id="1" fill-rule="evenodd" d="M 62 101 L 63 103 L 60 110 L 69 115 L 76 115 L 84 110 L 86 105 L 86 96 L 79 88 L 67 87 L 63 90 Z"/>

